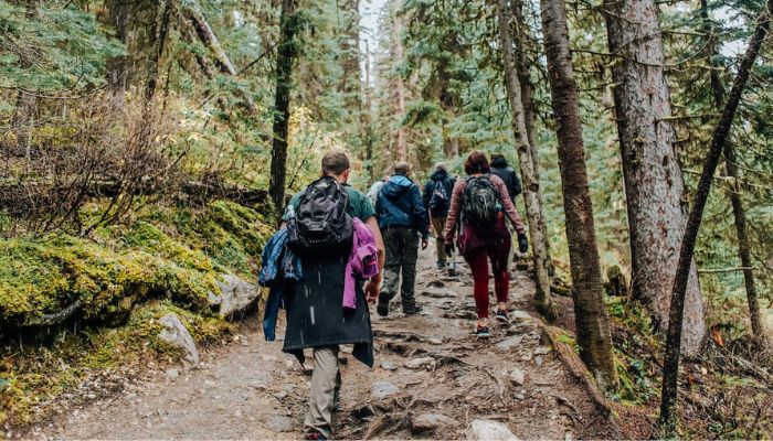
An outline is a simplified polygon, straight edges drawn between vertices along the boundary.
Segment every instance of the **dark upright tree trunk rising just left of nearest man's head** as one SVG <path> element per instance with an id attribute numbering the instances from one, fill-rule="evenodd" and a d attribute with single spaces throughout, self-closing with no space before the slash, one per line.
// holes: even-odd
<path id="1" fill-rule="evenodd" d="M 279 43 L 276 58 L 276 93 L 274 98 L 274 142 L 271 155 L 271 194 L 274 209 L 282 214 L 285 206 L 285 179 L 287 174 L 287 126 L 289 123 L 289 95 L 293 80 L 293 62 L 295 58 L 295 34 L 297 18 L 295 15 L 296 0 L 282 1 L 279 19 Z"/>

